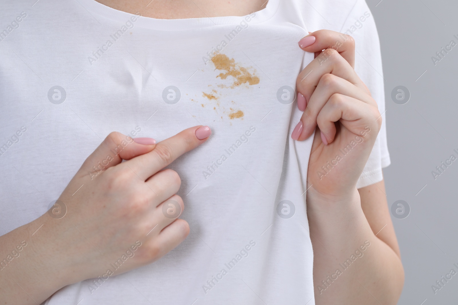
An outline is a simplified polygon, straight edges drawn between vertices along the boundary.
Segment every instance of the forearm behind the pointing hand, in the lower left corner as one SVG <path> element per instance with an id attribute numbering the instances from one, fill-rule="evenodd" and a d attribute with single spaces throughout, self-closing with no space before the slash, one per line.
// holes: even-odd
<path id="1" fill-rule="evenodd" d="M 40 304 L 69 284 L 65 255 L 59 245 L 49 243 L 46 216 L 0 236 L 2 304 Z"/>

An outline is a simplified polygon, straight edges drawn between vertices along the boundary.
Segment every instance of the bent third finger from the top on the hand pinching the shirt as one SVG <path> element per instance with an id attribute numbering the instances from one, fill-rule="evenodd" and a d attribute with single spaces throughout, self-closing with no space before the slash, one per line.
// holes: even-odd
<path id="1" fill-rule="evenodd" d="M 304 123 L 303 135 L 305 138 L 308 138 L 314 132 L 318 113 L 335 93 L 376 105 L 371 96 L 354 86 L 348 80 L 344 80 L 333 74 L 325 74 L 318 82 L 315 91 L 313 91 L 310 97 L 310 101 L 306 103 L 306 108 L 302 115 L 302 122 Z"/>

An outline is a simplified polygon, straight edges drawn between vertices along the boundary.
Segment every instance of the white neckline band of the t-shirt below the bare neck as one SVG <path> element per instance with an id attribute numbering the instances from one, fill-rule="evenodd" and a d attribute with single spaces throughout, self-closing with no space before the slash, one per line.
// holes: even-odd
<path id="1" fill-rule="evenodd" d="M 150 17 L 140 17 L 136 20 L 135 26 L 163 31 L 180 31 L 220 25 L 238 25 L 244 20 L 245 22 L 248 21 L 249 23 L 260 23 L 270 19 L 273 15 L 275 15 L 275 12 L 278 10 L 280 1 L 281 0 L 268 0 L 264 9 L 246 16 L 202 17 L 186 19 L 156 19 Z M 103 16 L 110 20 L 119 21 L 121 23 L 129 21 L 133 16 L 131 13 L 118 11 L 114 8 L 101 4 L 96 0 L 78 0 L 78 2 L 85 9 L 87 9 L 87 11 L 92 11 L 99 16 Z"/>

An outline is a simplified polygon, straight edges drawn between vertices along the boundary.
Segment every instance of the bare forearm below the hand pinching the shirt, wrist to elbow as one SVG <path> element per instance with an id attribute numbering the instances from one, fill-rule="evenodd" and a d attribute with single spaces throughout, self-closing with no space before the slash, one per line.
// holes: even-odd
<path id="1" fill-rule="evenodd" d="M 401 260 L 371 230 L 358 192 L 344 202 L 309 201 L 307 214 L 316 304 L 396 304 L 403 287 Z"/>

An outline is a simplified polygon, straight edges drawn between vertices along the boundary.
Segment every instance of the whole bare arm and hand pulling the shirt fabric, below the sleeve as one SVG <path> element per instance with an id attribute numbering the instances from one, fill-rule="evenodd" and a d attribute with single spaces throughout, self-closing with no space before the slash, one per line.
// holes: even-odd
<path id="1" fill-rule="evenodd" d="M 356 189 L 382 116 L 354 70 L 354 39 L 320 30 L 299 45 L 315 53 L 296 81 L 304 114 L 291 137 L 315 133 L 306 194 L 316 304 L 396 304 L 403 268 L 384 190 Z"/>

